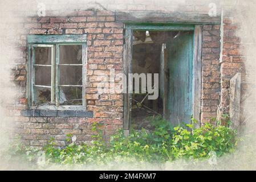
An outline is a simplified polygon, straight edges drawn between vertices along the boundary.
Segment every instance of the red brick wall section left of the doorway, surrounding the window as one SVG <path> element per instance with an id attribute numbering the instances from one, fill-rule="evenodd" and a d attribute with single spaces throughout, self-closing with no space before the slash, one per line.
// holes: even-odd
<path id="1" fill-rule="evenodd" d="M 98 94 L 97 86 L 109 75 L 109 69 L 115 73 L 123 72 L 123 23 L 116 23 L 111 11 L 76 11 L 65 17 L 30 17 L 23 27 L 27 34 L 62 35 L 87 34 L 87 110 L 94 111 L 94 118 L 80 117 L 19 117 L 19 109 L 26 109 L 26 92 L 19 98 L 19 108 L 11 111 L 18 135 L 26 144 L 42 146 L 51 137 L 58 146 L 66 145 L 66 135 L 74 134 L 77 141 L 90 141 L 92 123 L 103 124 L 101 130 L 105 139 L 114 131 L 123 127 L 123 94 Z M 21 35 L 23 45 L 18 47 L 23 63 L 13 69 L 15 84 L 26 90 L 27 58 L 26 34 Z M 23 60 L 25 59 L 25 60 Z M 108 84 L 105 80 L 105 85 Z M 112 87 L 113 85 L 108 85 Z"/>

